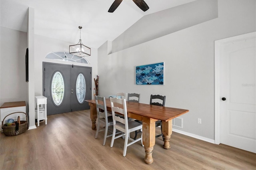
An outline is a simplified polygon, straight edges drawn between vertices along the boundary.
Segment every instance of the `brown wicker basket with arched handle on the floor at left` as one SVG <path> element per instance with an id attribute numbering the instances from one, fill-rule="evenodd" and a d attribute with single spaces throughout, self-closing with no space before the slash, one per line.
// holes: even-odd
<path id="1" fill-rule="evenodd" d="M 10 113 L 6 117 L 8 117 L 12 114 L 15 114 L 15 113 L 24 113 L 24 112 Z M 22 134 L 23 132 L 28 130 L 28 116 L 27 116 L 26 113 L 24 113 L 24 114 L 26 115 L 26 121 L 20 121 L 20 117 L 18 116 L 18 122 L 19 122 L 18 130 L 16 130 L 16 125 L 7 126 L 6 124 L 4 124 L 4 120 L 2 121 L 2 129 L 3 129 L 3 132 L 6 136 L 15 136 L 15 135 L 18 135 L 18 134 Z M 4 119 L 6 117 L 4 117 Z"/>

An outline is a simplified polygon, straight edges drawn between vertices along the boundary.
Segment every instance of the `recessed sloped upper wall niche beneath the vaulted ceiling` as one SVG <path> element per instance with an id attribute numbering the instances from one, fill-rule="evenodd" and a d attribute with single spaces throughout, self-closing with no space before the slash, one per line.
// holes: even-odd
<path id="1" fill-rule="evenodd" d="M 217 17 L 217 0 L 196 0 L 148 14 L 112 42 L 112 52 L 148 42 Z"/>

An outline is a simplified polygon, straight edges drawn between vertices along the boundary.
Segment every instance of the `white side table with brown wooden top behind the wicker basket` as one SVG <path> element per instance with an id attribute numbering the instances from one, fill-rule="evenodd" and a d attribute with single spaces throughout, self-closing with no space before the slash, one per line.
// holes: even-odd
<path id="1" fill-rule="evenodd" d="M 14 112 L 24 112 L 26 113 L 26 102 L 25 101 L 16 101 L 16 102 L 6 102 L 0 107 L 0 121 L 1 121 L 1 129 L 2 129 L 2 121 L 4 117 L 9 115 L 10 113 Z M 14 119 L 14 121 L 17 121 L 18 116 L 20 116 L 21 121 L 26 121 L 26 115 L 23 113 L 17 113 L 8 116 L 8 119 Z M 7 119 L 5 120 L 5 122 Z M 5 124 L 4 122 L 4 124 Z"/>

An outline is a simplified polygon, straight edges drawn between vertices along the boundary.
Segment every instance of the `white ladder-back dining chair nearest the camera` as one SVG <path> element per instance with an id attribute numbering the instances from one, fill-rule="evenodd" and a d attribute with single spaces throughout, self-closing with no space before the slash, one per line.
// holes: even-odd
<path id="1" fill-rule="evenodd" d="M 113 117 L 113 134 L 115 134 L 112 136 L 110 147 L 111 148 L 113 147 L 114 140 L 116 138 L 120 138 L 123 135 L 125 135 L 123 156 L 126 156 L 127 147 L 142 139 L 142 136 L 141 138 L 138 138 L 136 140 L 134 140 L 133 138 L 130 138 L 130 132 L 134 132 L 136 130 L 142 129 L 142 124 L 135 121 L 128 120 L 125 99 L 110 98 L 110 103 L 111 103 L 111 110 L 112 110 L 112 117 Z M 124 118 L 116 116 L 115 113 L 122 114 Z M 123 133 L 116 136 L 116 130 L 120 130 Z M 128 143 L 128 140 L 131 140 L 131 142 Z"/>

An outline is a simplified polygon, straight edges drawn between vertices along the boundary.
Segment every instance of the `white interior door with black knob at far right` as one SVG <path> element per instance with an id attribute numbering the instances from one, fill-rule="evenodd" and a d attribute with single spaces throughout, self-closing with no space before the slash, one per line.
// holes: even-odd
<path id="1" fill-rule="evenodd" d="M 221 43 L 220 143 L 256 152 L 255 33 Z"/>

